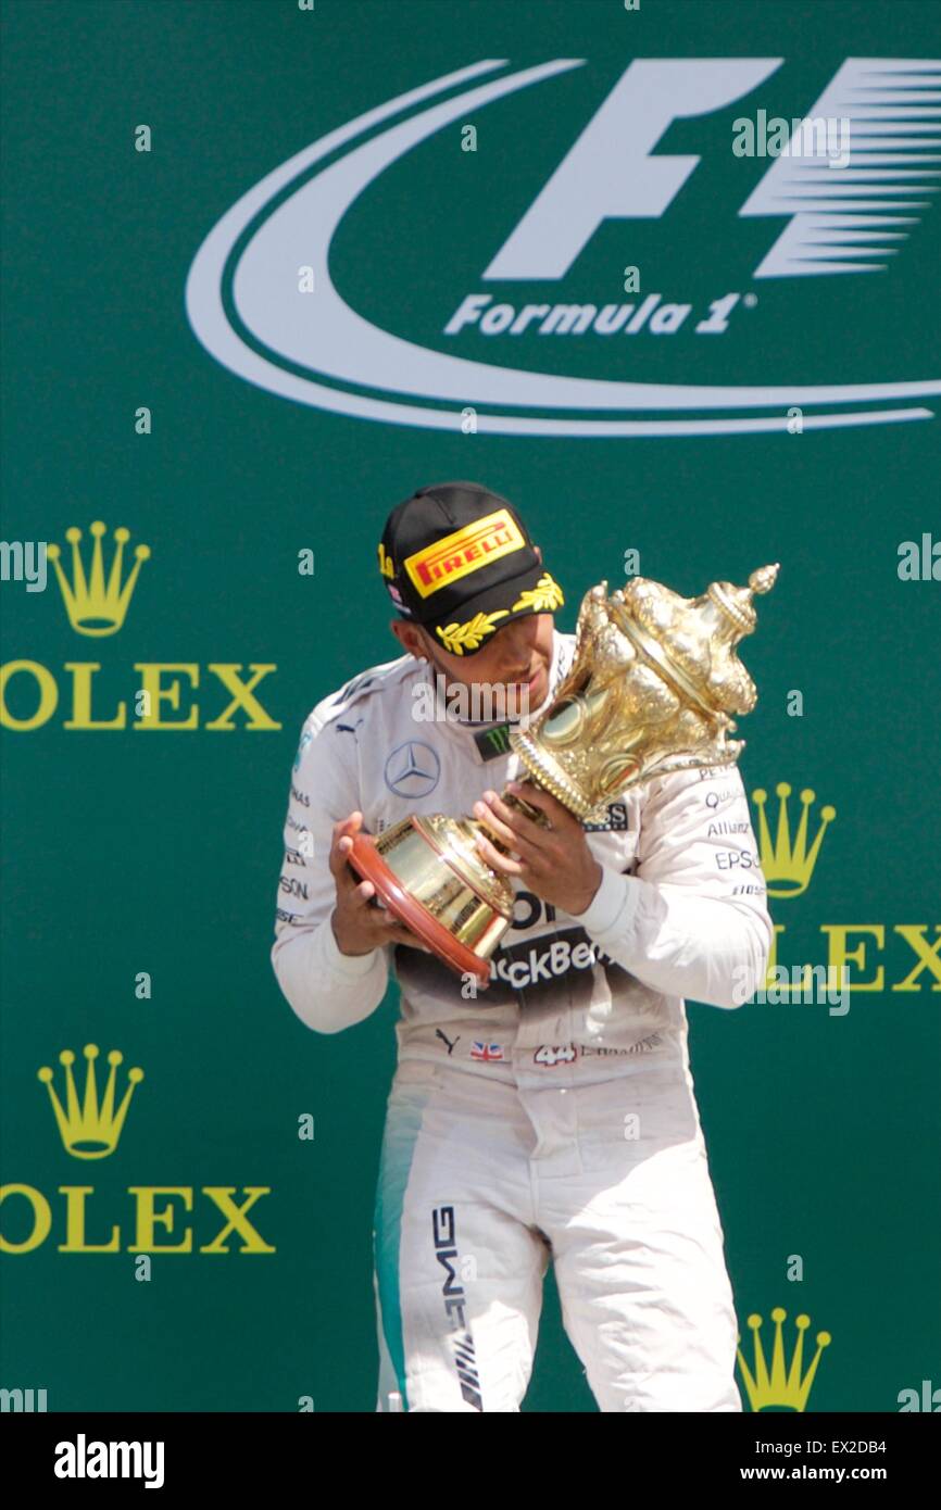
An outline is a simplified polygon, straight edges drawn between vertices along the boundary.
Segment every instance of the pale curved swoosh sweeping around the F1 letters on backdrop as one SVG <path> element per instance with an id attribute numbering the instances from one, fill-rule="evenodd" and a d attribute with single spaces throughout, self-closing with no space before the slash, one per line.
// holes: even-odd
<path id="1" fill-rule="evenodd" d="M 233 278 L 239 319 L 272 356 L 249 346 L 230 323 L 222 284 L 233 246 L 251 220 L 295 178 L 319 160 L 402 110 L 479 74 L 504 66 L 486 60 L 446 74 L 429 85 L 390 100 L 329 131 L 296 153 L 245 193 L 213 226 L 199 248 L 186 284 L 186 308 L 193 332 L 211 356 L 248 382 L 298 403 L 426 429 L 461 432 L 462 409 L 477 411 L 479 433 L 556 436 L 730 435 L 757 430 L 785 432 L 787 408 L 873 403 L 927 397 L 941 382 L 884 382 L 838 385 L 714 387 L 686 384 L 631 384 L 563 378 L 520 368 L 494 367 L 435 352 L 402 340 L 364 320 L 337 293 L 329 276 L 329 248 L 349 207 L 406 151 L 441 127 L 468 118 L 503 95 L 582 66 L 582 59 L 556 59 L 465 91 L 429 106 L 418 115 L 352 146 L 314 174 L 261 222 Z M 420 223 L 420 222 L 418 222 Z M 298 291 L 298 264 L 314 269 L 316 293 Z M 278 365 L 278 356 L 332 382 L 379 388 L 402 397 L 347 393 Z M 414 399 L 453 403 L 453 409 L 426 408 Z M 544 411 L 541 417 L 506 414 L 501 405 Z M 776 414 L 722 418 L 562 418 L 545 411 L 775 409 Z M 804 429 L 879 424 L 933 418 L 930 409 L 870 409 L 844 414 L 804 414 Z"/>

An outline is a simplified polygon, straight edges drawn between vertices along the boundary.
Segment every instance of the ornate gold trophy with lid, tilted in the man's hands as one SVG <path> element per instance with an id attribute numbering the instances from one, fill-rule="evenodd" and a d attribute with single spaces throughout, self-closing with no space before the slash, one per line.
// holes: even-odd
<path id="1" fill-rule="evenodd" d="M 755 684 L 737 645 L 755 628 L 754 596 L 769 592 L 778 565 L 748 587 L 713 581 L 701 598 L 633 577 L 609 598 L 607 581 L 582 599 L 575 655 L 550 708 L 509 735 L 526 767 L 523 784 L 551 791 L 583 821 L 604 821 L 607 802 L 668 772 L 728 766 L 745 740 L 730 740 L 733 714 L 751 713 Z M 544 814 L 503 793 L 536 823 Z M 489 985 L 489 957 L 512 921 L 514 888 L 480 855 L 477 818 L 409 817 L 373 838 L 358 834 L 349 855 L 378 898 L 452 969 Z"/>

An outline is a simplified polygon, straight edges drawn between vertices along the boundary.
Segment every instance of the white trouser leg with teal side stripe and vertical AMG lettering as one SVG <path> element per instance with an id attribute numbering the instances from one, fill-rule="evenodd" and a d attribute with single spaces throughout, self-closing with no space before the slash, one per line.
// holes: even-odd
<path id="1" fill-rule="evenodd" d="M 492 1096 L 477 1105 L 464 1077 L 441 1087 L 421 1071 L 397 1078 L 384 1139 L 379 1409 L 397 1391 L 405 1410 L 518 1410 L 548 1264 L 526 1220 L 526 1129 L 512 1087 L 497 1093 L 501 1114 Z"/>

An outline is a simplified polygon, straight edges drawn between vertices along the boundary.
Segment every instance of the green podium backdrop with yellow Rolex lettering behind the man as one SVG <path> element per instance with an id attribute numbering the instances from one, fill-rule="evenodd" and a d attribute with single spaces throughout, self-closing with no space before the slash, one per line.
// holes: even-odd
<path id="1" fill-rule="evenodd" d="M 483 59 L 583 59 L 474 112 L 476 153 L 461 148 L 461 118 L 352 204 L 329 267 L 363 319 L 568 379 L 924 382 L 938 352 L 933 189 L 903 211 L 911 234 L 881 272 L 754 278 L 785 222 L 739 214 L 770 165 L 730 143 L 739 115 L 808 110 L 847 57 L 929 59 L 932 20 L 915 0 L 3 5 L 3 539 L 57 542 L 73 587 L 68 528 L 88 553 L 103 521 L 107 566 L 125 527 L 124 580 L 134 545 L 150 547 L 121 627 L 103 636 L 86 633 L 88 602 L 69 616 L 51 562 L 42 592 L 3 581 L 0 1229 L 23 1246 L 0 1255 L 3 1389 L 45 1389 L 50 1410 L 373 1409 L 370 1225 L 396 995 L 361 1027 L 317 1037 L 281 998 L 269 948 L 301 725 L 353 672 L 394 657 L 382 521 L 415 486 L 453 477 L 524 512 L 566 587 L 563 630 L 594 581 L 618 580 L 628 548 L 643 575 L 687 593 L 781 562 L 746 648 L 760 705 L 742 770 L 749 793 L 769 791 L 772 830 L 779 782 L 794 793 L 791 824 L 798 793 L 816 794 L 811 840 L 823 806 L 835 817 L 808 885 L 772 897 L 778 954 L 825 965 L 849 927 L 847 950 L 865 950 L 850 978 L 868 989 L 841 1016 L 689 1007 L 730 1273 L 743 1333 L 757 1312 L 767 1347 L 782 1306 L 788 1356 L 798 1314 L 811 1338 L 831 1335 L 810 1410 L 897 1410 L 923 1380 L 941 1388 L 941 587 L 930 565 L 899 574 L 902 542 L 941 536 L 930 399 L 896 403 L 927 403 L 924 418 L 804 433 L 508 435 L 485 415 L 462 433 L 453 405 L 446 427 L 382 423 L 246 382 L 208 355 L 184 307 L 219 217 L 328 131 Z M 656 151 L 699 162 L 662 216 L 606 217 L 557 282 L 488 282 L 643 57 L 782 65 L 743 101 L 669 125 Z M 924 98 L 903 119 L 930 136 Z M 142 124 L 150 151 L 134 148 Z M 929 186 L 933 171 L 923 165 Z M 307 261 L 295 252 L 292 267 Z M 471 291 L 514 305 L 628 299 L 628 264 L 695 317 L 730 290 L 743 299 L 708 338 L 693 317 L 622 344 L 443 334 Z M 313 575 L 298 571 L 304 550 Z M 255 673 L 255 701 L 236 696 Z M 150 722 L 140 687 L 169 690 Z M 156 713 L 192 726 L 153 726 Z M 66 1146 L 76 1129 L 62 1136 L 38 1078 L 53 1069 L 63 1098 L 59 1054 L 73 1049 L 82 1093 L 86 1043 L 100 1069 L 124 1055 L 118 1098 L 128 1068 L 143 1071 L 97 1160 Z M 298 1136 L 305 1113 L 313 1140 Z M 177 1193 L 154 1194 L 165 1187 Z M 227 1199 L 245 1205 L 252 1190 L 251 1226 L 225 1235 Z M 172 1210 L 169 1228 L 147 1231 L 148 1202 Z M 160 1250 L 187 1231 L 192 1252 Z M 82 1243 L 116 1250 L 68 1250 Z M 151 1253 L 148 1280 L 136 1247 Z M 526 1409 L 594 1409 L 551 1285 Z"/>

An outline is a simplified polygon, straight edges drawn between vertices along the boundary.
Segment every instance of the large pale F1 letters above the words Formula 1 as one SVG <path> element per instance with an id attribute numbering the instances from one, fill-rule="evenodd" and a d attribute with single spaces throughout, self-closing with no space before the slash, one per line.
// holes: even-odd
<path id="1" fill-rule="evenodd" d="M 636 59 L 483 276 L 563 278 L 604 220 L 659 219 L 701 162 L 696 156 L 651 156 L 669 125 L 733 104 L 782 62 L 781 57 Z M 918 169 L 918 159 L 909 153 L 924 145 L 908 118 L 917 115 L 926 131 L 938 130 L 941 109 L 927 104 L 924 94 L 926 83 L 936 89 L 938 82 L 941 63 L 929 60 L 850 57 L 843 63 L 808 115 L 846 121 L 850 137 L 859 136 L 861 149 L 850 149 L 847 166 L 829 174 L 829 183 L 820 178 L 820 157 L 772 162 L 739 211 L 788 220 L 755 269 L 755 278 L 878 270 L 867 258 L 885 255 L 884 243 L 891 246 L 897 237 L 873 226 L 896 225 L 888 211 L 897 205 L 897 169 Z M 905 119 L 899 122 L 897 116 Z M 936 145 L 935 139 L 927 145 Z M 930 175 L 924 184 L 917 181 L 920 172 L 903 177 L 912 195 L 933 192 Z M 908 210 L 905 223 L 911 223 L 912 205 L 899 208 Z M 873 210 L 884 217 L 873 219 Z M 859 230 L 868 234 L 859 239 Z"/>

